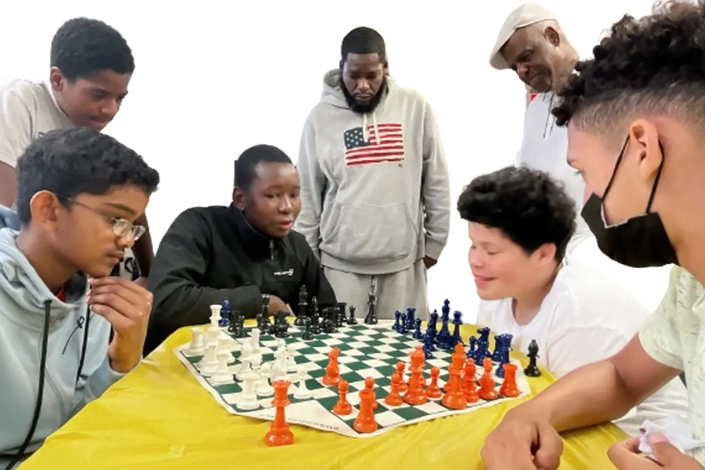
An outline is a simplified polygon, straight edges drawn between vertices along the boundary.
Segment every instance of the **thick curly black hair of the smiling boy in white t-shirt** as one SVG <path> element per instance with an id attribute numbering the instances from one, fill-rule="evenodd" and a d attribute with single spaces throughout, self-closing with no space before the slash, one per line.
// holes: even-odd
<path id="1" fill-rule="evenodd" d="M 508 166 L 478 176 L 458 198 L 466 221 L 498 228 L 527 254 L 556 245 L 556 261 L 565 256 L 575 232 L 575 203 L 563 186 L 544 171 Z"/>

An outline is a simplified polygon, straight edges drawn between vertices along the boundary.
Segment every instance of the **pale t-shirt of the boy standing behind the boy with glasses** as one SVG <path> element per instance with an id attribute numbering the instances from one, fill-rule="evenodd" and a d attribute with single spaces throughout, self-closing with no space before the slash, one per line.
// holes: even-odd
<path id="1" fill-rule="evenodd" d="M 74 124 L 46 82 L 13 80 L 0 89 L 0 161 L 15 168 L 32 140 Z"/>

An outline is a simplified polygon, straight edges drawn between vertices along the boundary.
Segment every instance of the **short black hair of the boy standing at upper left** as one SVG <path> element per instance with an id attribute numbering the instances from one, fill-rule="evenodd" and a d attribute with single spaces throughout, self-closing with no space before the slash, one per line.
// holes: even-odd
<path id="1" fill-rule="evenodd" d="M 73 18 L 63 23 L 51 40 L 51 67 L 72 82 L 101 70 L 133 73 L 135 58 L 127 41 L 100 20 Z"/>

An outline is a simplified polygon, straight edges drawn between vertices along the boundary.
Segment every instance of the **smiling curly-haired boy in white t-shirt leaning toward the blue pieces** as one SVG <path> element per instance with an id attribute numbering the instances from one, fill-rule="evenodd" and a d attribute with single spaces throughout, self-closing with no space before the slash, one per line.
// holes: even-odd
<path id="1" fill-rule="evenodd" d="M 478 323 L 510 333 L 513 347 L 539 345 L 539 365 L 560 378 L 618 352 L 649 312 L 597 271 L 565 259 L 575 204 L 548 173 L 508 167 L 475 178 L 458 199 L 468 221 L 468 261 L 482 302 Z M 623 419 L 638 435 L 644 420 L 687 414 L 674 379 Z"/>

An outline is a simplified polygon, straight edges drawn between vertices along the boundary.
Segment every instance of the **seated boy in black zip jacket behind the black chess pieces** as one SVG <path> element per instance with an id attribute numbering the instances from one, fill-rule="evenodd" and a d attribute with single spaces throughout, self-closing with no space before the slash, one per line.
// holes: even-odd
<path id="1" fill-rule="evenodd" d="M 321 308 L 336 304 L 318 259 L 291 230 L 301 210 L 299 175 L 291 159 L 270 145 L 251 147 L 235 162 L 230 206 L 181 213 L 159 244 L 149 276 L 154 309 L 145 354 L 178 328 L 209 322 L 210 306 L 228 297 L 245 318 L 262 311 L 298 315 L 306 286 Z"/>

